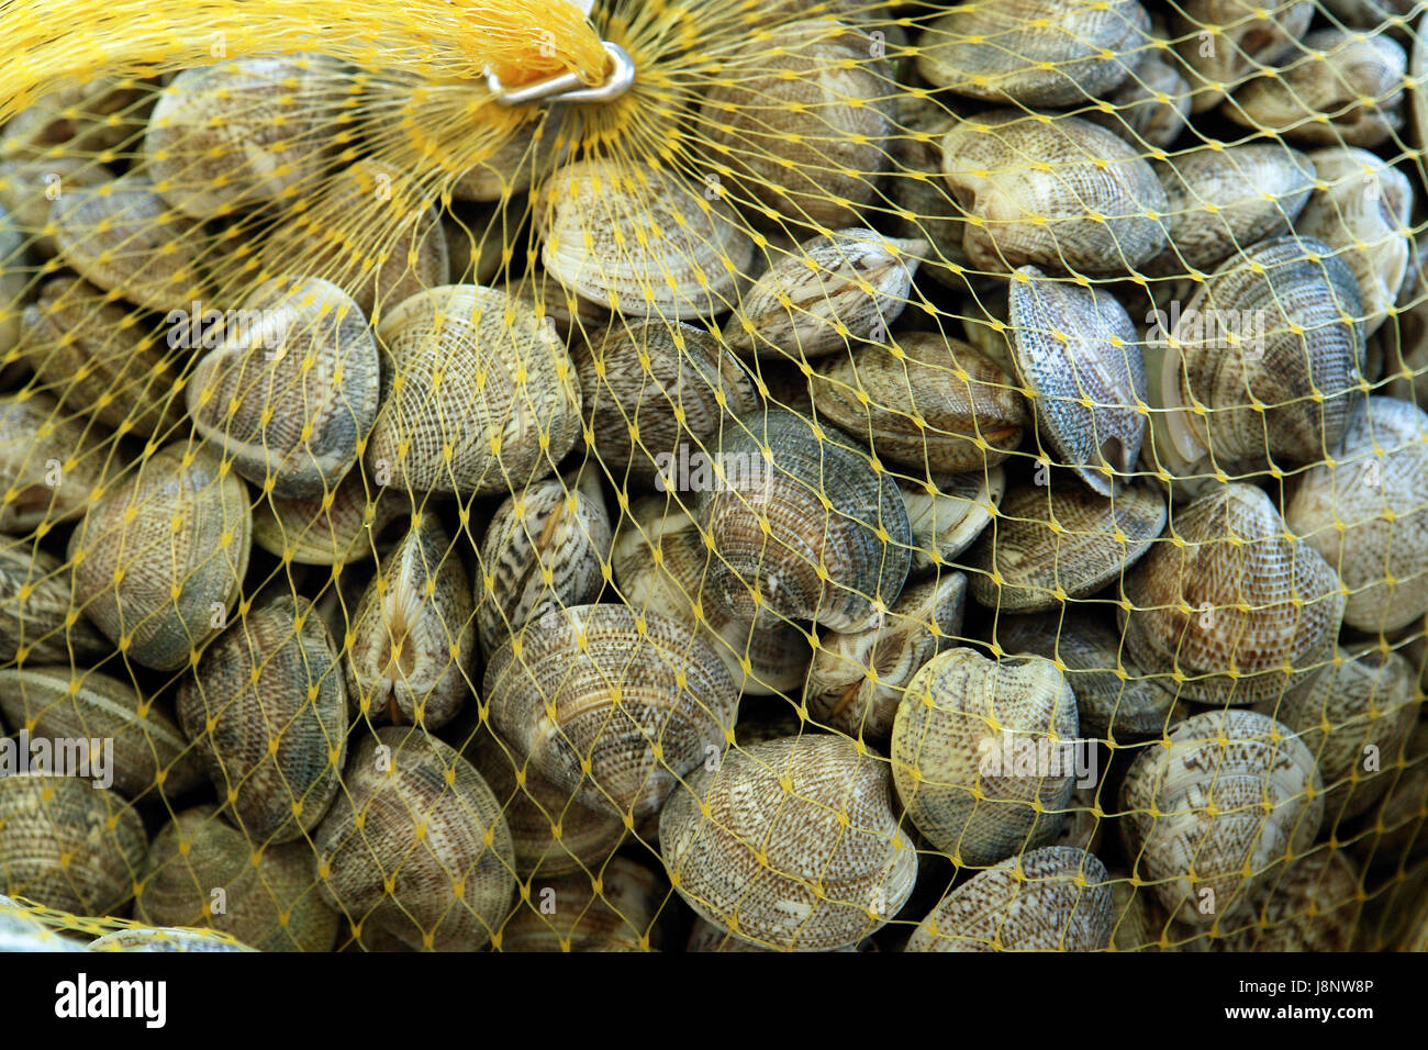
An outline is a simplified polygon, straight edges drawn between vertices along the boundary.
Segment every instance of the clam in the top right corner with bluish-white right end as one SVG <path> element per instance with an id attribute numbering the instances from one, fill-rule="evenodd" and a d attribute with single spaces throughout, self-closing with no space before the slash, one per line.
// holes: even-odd
<path id="1" fill-rule="evenodd" d="M 1251 80 L 1222 106 L 1255 131 L 1315 146 L 1381 146 L 1404 126 L 1408 54 L 1382 33 L 1308 33 L 1289 64 Z"/>

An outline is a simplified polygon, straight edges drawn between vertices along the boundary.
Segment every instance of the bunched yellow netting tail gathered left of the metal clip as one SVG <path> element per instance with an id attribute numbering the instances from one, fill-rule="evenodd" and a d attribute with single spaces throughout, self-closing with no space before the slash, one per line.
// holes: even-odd
<path id="1" fill-rule="evenodd" d="M 491 67 L 507 84 L 597 83 L 608 63 L 570 0 L 0 0 L 0 120 L 99 76 L 303 50 L 428 77 Z"/>

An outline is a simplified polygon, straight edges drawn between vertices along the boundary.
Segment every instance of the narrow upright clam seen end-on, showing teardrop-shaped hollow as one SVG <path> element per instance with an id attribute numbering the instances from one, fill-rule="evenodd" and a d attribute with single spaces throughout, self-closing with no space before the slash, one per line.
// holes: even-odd
<path id="1" fill-rule="evenodd" d="M 433 510 L 383 559 L 347 633 L 348 696 L 363 714 L 437 729 L 471 694 L 471 580 Z"/>

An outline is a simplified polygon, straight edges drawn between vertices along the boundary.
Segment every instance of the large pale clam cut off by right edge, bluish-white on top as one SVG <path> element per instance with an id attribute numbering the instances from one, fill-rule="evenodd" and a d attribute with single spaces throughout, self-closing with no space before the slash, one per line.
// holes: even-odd
<path id="1" fill-rule="evenodd" d="M 1301 474 L 1284 516 L 1338 570 L 1344 623 L 1394 631 L 1428 613 L 1428 413 L 1394 397 L 1355 409 L 1332 463 Z"/>

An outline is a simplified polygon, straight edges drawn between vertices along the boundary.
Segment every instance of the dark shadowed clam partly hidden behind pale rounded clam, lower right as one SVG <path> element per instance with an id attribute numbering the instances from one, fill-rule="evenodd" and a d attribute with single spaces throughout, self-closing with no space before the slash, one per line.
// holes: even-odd
<path id="1" fill-rule="evenodd" d="M 1172 721 L 1175 693 L 1148 676 L 1124 651 L 1121 631 L 1091 610 L 998 616 L 997 644 L 1010 656 L 1041 656 L 1064 666 L 1082 733 L 1140 740 L 1161 736 Z"/>

